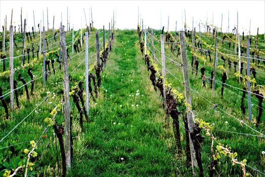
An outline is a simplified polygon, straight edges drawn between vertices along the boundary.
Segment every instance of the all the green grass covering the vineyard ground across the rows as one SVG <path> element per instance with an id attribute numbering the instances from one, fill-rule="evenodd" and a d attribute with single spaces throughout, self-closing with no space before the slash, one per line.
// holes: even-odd
<path id="1" fill-rule="evenodd" d="M 100 30 L 101 31 L 101 30 Z M 99 31 L 99 32 L 100 32 Z M 159 38 L 159 31 L 154 31 L 156 38 Z M 47 32 L 47 38 L 51 36 L 51 31 Z M 206 34 L 205 34 L 206 35 Z M 72 33 L 67 35 L 67 41 L 71 41 Z M 102 33 L 99 35 L 102 36 Z M 213 42 L 213 39 L 209 39 Z M 89 45 L 92 45 L 95 38 L 92 36 L 89 39 Z M 210 42 L 208 41 L 208 42 Z M 102 41 L 100 40 L 100 43 Z M 155 41 L 155 47 L 160 50 L 160 44 Z M 219 45 L 221 45 L 219 43 Z M 176 54 L 170 52 L 166 45 L 166 55 L 175 61 L 181 63 L 181 58 L 176 57 Z M 102 48 L 101 48 L 102 49 Z M 71 47 L 69 50 L 70 57 Z M 89 48 L 89 55 L 95 53 L 95 46 Z M 16 53 L 19 55 L 19 53 Z M 15 56 L 16 56 L 15 55 Z M 75 55 L 75 54 L 74 54 Z M 157 51 L 155 56 L 160 60 L 161 54 Z M 53 56 L 50 56 L 53 57 Z M 75 82 L 80 79 L 84 80 L 85 65 L 82 63 L 85 54 L 82 53 L 74 57 L 69 62 L 70 89 Z M 188 52 L 189 67 L 191 54 Z M 16 61 L 17 62 L 17 61 Z M 95 62 L 95 56 L 89 58 L 89 65 Z M 155 61 L 156 62 L 156 61 Z M 16 63 L 18 66 L 20 61 Z M 38 61 L 37 63 L 41 63 Z M 157 62 L 156 62 L 157 63 Z M 55 66 L 57 66 L 56 63 Z M 219 61 L 219 65 L 223 64 Z M 158 66 L 160 66 L 158 64 Z M 209 75 L 212 64 L 206 64 L 206 74 Z M 7 66 L 8 68 L 9 66 Z M 183 80 L 182 69 L 166 60 L 166 67 L 180 80 Z M 201 63 L 199 68 L 201 67 Z M 74 70 L 77 68 L 76 70 Z M 26 77 L 26 71 L 23 71 L 23 76 Z M 262 68 L 257 69 L 262 71 Z M 41 65 L 34 65 L 33 72 L 41 72 Z M 94 71 L 92 71 L 94 73 Z M 31 96 L 30 102 L 26 100 L 24 88 L 19 90 L 19 100 L 21 107 L 11 114 L 10 120 L 4 119 L 4 110 L 0 107 L 3 121 L 0 122 L 1 136 L 3 138 L 25 115 L 36 107 L 46 96 L 46 92 L 52 92 L 58 84 L 63 83 L 63 71 L 56 71 L 56 74 L 51 74 L 48 81 L 43 85 L 42 80 L 35 82 L 34 96 Z M 172 119 L 170 126 L 164 127 L 165 111 L 162 106 L 162 97 L 158 92 L 153 90 L 151 81 L 149 80 L 149 72 L 144 64 L 144 60 L 140 53 L 138 35 L 136 30 L 117 30 L 113 43 L 113 50 L 108 59 L 107 65 L 101 75 L 102 86 L 100 88 L 98 98 L 90 99 L 89 106 L 89 121 L 84 122 L 84 132 L 81 132 L 79 126 L 79 116 L 77 109 L 70 99 L 71 114 L 73 115 L 73 138 L 74 138 L 74 158 L 71 170 L 68 171 L 68 176 L 191 176 L 191 170 L 185 166 L 185 131 L 181 129 L 181 147 L 182 150 L 177 153 L 175 139 L 173 136 Z M 221 100 L 221 86 L 217 84 L 217 91 L 210 91 L 208 84 L 206 89 L 202 88 L 201 76 L 189 72 L 190 85 L 202 97 L 231 113 L 235 117 L 247 122 L 240 110 L 241 99 L 231 91 L 225 89 L 224 99 Z M 15 76 L 16 78 L 17 76 Z M 218 70 L 217 79 L 221 80 L 222 71 Z M 242 84 L 237 83 L 237 79 L 233 76 L 233 65 L 231 70 L 228 70 L 228 84 L 242 87 Z M 264 84 L 264 75 L 257 73 L 258 84 Z M 8 91 L 8 76 L 2 76 L 4 90 Z M 167 73 L 167 79 L 172 85 L 184 93 L 183 84 L 176 78 Z M 26 81 L 29 81 L 27 78 Z M 18 85 L 19 86 L 19 85 Z M 231 90 L 231 89 L 230 89 Z M 233 90 L 236 92 L 236 90 Z M 8 138 L 1 142 L 1 147 L 14 145 L 20 142 L 31 141 L 38 139 L 41 132 L 46 127 L 44 118 L 49 116 L 49 112 L 63 98 L 63 85 L 59 86 L 54 93 L 54 98 L 49 97 L 47 101 L 41 104 L 36 112 L 34 111 L 25 121 L 14 130 Z M 53 94 L 52 94 L 53 95 Z M 238 153 L 238 159 L 247 159 L 247 164 L 253 168 L 264 171 L 265 159 L 261 155 L 261 151 L 265 150 L 263 138 L 231 134 L 225 131 L 236 131 L 245 134 L 255 134 L 246 126 L 240 125 L 233 117 L 227 115 L 218 109 L 211 109 L 213 105 L 205 101 L 195 92 L 191 92 L 192 107 L 197 118 L 214 124 L 213 134 L 218 142 L 228 145 L 233 152 Z M 242 95 L 241 92 L 238 95 Z M 7 102 L 9 98 L 7 98 Z M 252 99 L 255 104 L 256 99 Z M 246 104 L 246 103 L 245 103 Z M 81 105 L 81 104 L 80 104 Z M 253 109 L 253 117 L 256 110 Z M 64 121 L 64 115 L 59 112 L 56 116 L 59 123 Z M 228 123 L 225 123 L 228 121 Z M 261 122 L 264 121 L 262 114 Z M 183 121 L 180 120 L 181 125 Z M 254 128 L 253 123 L 249 124 Z M 257 128 L 258 131 L 264 134 L 264 125 Z M 32 158 L 35 163 L 33 171 L 30 171 L 30 176 L 55 176 L 60 175 L 57 166 L 57 153 L 60 159 L 60 149 L 55 136 L 52 134 L 51 128 L 47 131 L 47 138 L 41 139 L 36 150 L 38 156 Z M 204 132 L 202 132 L 204 135 Z M 49 145 L 49 148 L 47 148 Z M 216 146 L 217 144 L 215 144 Z M 202 143 L 202 162 L 205 176 L 207 173 L 207 165 L 210 157 L 210 141 L 206 138 Z M 1 148 L 0 147 L 0 148 Z M 23 153 L 24 149 L 30 149 L 30 144 L 24 143 L 21 145 L 12 146 L 4 150 L 0 150 L 0 175 L 7 168 L 15 168 L 19 161 L 26 158 Z M 58 149 L 58 150 L 57 150 Z M 16 158 L 17 161 L 16 162 Z M 4 162 L 9 164 L 4 164 Z M 14 161 L 14 163 L 13 163 Z M 229 158 L 222 157 L 221 164 L 217 168 L 217 174 L 220 176 L 241 176 L 242 172 L 239 166 L 232 166 Z M 13 164 L 11 164 L 11 162 Z M 61 160 L 59 160 L 59 168 Z M 257 174 L 255 171 L 247 168 L 253 176 Z"/>

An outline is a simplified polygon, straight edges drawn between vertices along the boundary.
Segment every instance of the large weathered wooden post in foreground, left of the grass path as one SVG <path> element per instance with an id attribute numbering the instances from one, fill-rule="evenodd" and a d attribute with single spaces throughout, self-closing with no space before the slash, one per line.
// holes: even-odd
<path id="1" fill-rule="evenodd" d="M 68 59 L 65 43 L 64 27 L 60 28 L 60 43 L 63 56 L 63 71 L 64 71 L 64 111 L 65 111 L 65 154 L 66 167 L 71 167 L 71 122 L 70 122 L 70 96 L 69 96 L 69 73 L 68 73 Z"/>

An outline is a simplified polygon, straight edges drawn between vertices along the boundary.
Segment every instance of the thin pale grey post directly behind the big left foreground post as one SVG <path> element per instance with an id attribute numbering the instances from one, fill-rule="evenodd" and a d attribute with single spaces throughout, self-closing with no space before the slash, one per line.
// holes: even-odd
<path id="1" fill-rule="evenodd" d="M 88 72 L 89 72 L 89 64 L 88 64 L 88 32 L 85 32 L 86 36 L 86 114 L 89 115 L 89 87 L 88 87 Z"/>

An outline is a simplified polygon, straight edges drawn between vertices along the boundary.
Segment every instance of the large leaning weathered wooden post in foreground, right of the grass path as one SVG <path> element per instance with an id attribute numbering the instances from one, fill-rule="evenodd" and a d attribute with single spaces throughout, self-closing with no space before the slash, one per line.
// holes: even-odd
<path id="1" fill-rule="evenodd" d="M 190 134 L 193 132 L 194 120 L 192 117 L 192 110 L 191 110 L 191 96 L 190 96 L 190 86 L 189 86 L 190 81 L 189 81 L 189 72 L 188 72 L 185 31 L 180 31 L 179 35 L 180 35 L 180 45 L 181 45 L 181 58 L 182 58 L 182 65 L 183 65 L 185 98 L 186 98 L 187 104 L 190 105 L 190 106 L 186 106 L 186 108 L 187 108 L 187 119 L 188 119 L 188 126 L 189 126 L 191 166 L 192 166 L 192 171 L 194 174 L 194 167 L 197 167 L 197 161 L 195 158 L 195 150 L 194 150 L 193 142 L 190 136 Z"/>

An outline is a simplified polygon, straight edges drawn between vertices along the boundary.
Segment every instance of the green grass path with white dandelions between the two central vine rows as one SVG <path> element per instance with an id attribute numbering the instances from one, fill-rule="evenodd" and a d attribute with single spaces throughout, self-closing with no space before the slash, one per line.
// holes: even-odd
<path id="1" fill-rule="evenodd" d="M 116 33 L 102 74 L 103 94 L 90 105 L 85 134 L 74 141 L 70 176 L 170 176 L 176 171 L 164 138 L 173 134 L 163 130 L 161 97 L 153 91 L 137 40 L 135 30 Z"/>

